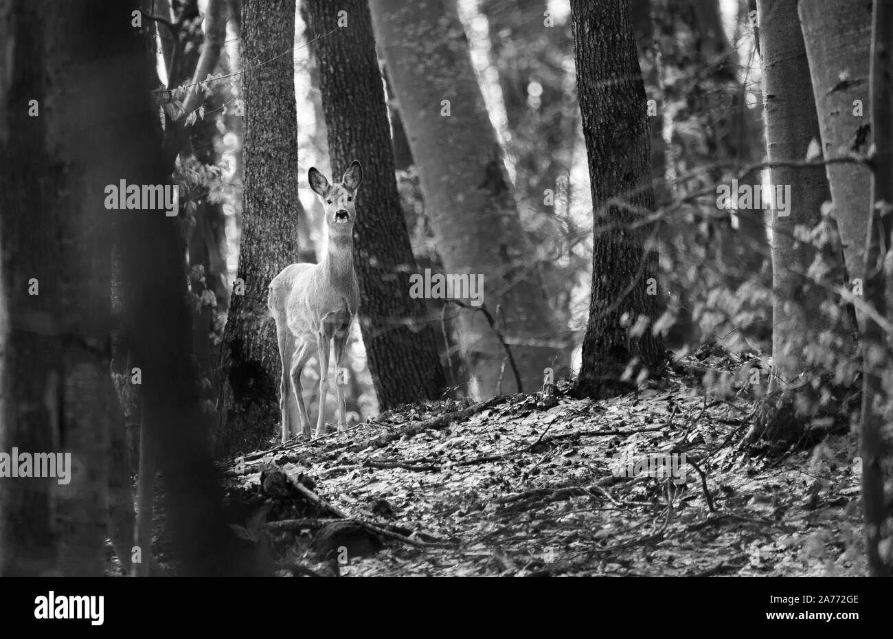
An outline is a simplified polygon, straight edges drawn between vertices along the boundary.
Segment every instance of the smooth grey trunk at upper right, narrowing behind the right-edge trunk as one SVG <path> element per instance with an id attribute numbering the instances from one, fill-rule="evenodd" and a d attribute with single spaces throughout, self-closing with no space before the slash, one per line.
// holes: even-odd
<path id="1" fill-rule="evenodd" d="M 864 0 L 798 4 L 826 160 L 868 150 L 871 10 Z M 853 113 L 855 100 L 863 104 L 861 116 Z M 860 164 L 827 164 L 825 171 L 852 281 L 864 277 L 871 172 Z"/>

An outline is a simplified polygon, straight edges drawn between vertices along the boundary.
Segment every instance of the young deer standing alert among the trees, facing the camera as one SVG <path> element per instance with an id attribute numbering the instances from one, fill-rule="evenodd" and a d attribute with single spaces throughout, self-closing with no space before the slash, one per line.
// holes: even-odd
<path id="1" fill-rule="evenodd" d="M 360 290 L 354 271 L 353 231 L 356 190 L 363 181 L 363 167 L 354 160 L 337 184 L 330 184 L 321 172 L 312 167 L 307 173 L 307 181 L 325 210 L 328 232 L 325 255 L 319 264 L 286 266 L 270 282 L 267 297 L 267 307 L 276 321 L 276 338 L 282 362 L 282 443 L 290 440 L 293 433 L 297 434 L 295 406 L 301 423 L 301 435 L 312 438 L 301 373 L 314 354 L 320 364 L 320 411 L 313 438 L 326 432 L 330 345 L 334 342 L 335 370 L 338 372 L 347 335 L 360 306 Z M 336 383 L 336 389 L 338 432 L 342 433 L 346 428 L 344 384 Z"/>

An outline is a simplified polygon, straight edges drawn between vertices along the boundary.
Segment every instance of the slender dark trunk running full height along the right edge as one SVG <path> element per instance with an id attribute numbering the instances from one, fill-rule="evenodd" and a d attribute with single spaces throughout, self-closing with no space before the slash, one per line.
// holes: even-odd
<path id="1" fill-rule="evenodd" d="M 887 282 L 890 242 L 893 241 L 893 5 L 878 0 L 872 20 L 872 207 L 865 259 L 865 301 L 889 319 Z M 888 266 L 889 268 L 889 266 Z M 881 429 L 889 416 L 890 335 L 865 317 L 864 387 L 862 391 L 862 503 L 865 549 L 871 576 L 889 576 L 889 550 L 884 558 L 880 542 L 889 549 L 889 509 L 884 500 L 884 445 Z"/>

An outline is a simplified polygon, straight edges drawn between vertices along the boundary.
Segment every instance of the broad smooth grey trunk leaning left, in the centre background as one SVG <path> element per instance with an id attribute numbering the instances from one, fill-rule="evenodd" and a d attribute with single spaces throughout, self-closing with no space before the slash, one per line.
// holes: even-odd
<path id="1" fill-rule="evenodd" d="M 538 386 L 544 368 L 567 363 L 564 332 L 505 180 L 455 2 L 372 0 L 370 6 L 388 69 L 395 70 L 390 80 L 444 268 L 483 274 L 484 305 L 505 333 L 522 385 Z M 474 307 L 459 315 L 459 332 L 476 381 L 472 394 L 497 391 L 506 356 L 495 332 Z M 514 386 L 504 383 L 503 390 Z"/>

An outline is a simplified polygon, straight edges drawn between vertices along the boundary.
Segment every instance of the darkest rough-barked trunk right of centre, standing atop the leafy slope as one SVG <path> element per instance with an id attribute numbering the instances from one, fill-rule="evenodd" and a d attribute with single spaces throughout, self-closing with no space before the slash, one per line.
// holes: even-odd
<path id="1" fill-rule="evenodd" d="M 663 359 L 660 336 L 652 333 L 657 316 L 652 225 L 630 228 L 654 210 L 655 201 L 630 2 L 572 0 L 571 16 L 595 210 L 592 298 L 575 391 L 596 397 L 625 388 L 620 382 L 627 366 L 651 368 Z"/>

